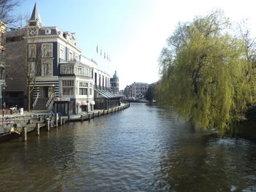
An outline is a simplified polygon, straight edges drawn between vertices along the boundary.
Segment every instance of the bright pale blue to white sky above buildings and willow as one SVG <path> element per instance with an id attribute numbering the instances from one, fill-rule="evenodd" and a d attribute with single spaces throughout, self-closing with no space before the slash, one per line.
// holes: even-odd
<path id="1" fill-rule="evenodd" d="M 111 76 L 117 70 L 120 87 L 159 79 L 159 53 L 178 21 L 206 15 L 219 7 L 233 20 L 255 21 L 254 1 L 171 0 L 39 0 L 44 26 L 75 32 L 78 47 Z M 34 0 L 24 0 L 16 10 L 31 15 Z M 255 26 L 252 25 L 252 29 Z M 110 55 L 100 58 L 96 47 Z"/>

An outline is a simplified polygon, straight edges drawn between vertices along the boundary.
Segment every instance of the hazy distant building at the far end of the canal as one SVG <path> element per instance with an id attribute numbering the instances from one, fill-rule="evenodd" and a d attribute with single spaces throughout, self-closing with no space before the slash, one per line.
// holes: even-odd
<path id="1" fill-rule="evenodd" d="M 135 99 L 144 99 L 144 94 L 148 90 L 148 83 L 145 82 L 133 82 L 132 85 L 127 85 L 124 88 L 124 94 L 127 97 L 133 97 Z"/>

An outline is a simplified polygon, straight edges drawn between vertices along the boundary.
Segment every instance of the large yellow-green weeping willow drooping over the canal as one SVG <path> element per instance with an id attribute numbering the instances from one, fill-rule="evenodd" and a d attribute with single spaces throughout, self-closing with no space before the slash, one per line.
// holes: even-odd
<path id="1" fill-rule="evenodd" d="M 201 128 L 225 129 L 255 98 L 255 66 L 222 11 L 178 23 L 160 56 L 158 101 Z"/>

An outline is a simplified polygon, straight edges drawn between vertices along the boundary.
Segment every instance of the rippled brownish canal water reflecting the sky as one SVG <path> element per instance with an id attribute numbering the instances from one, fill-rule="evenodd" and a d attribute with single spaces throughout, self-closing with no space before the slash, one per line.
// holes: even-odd
<path id="1" fill-rule="evenodd" d="M 0 144 L 0 191 L 256 191 L 256 143 L 131 104 Z"/>

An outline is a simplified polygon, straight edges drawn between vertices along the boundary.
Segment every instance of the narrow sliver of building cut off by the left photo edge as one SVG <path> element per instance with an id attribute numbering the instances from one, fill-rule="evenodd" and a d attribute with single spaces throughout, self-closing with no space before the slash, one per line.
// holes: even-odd
<path id="1" fill-rule="evenodd" d="M 4 89 L 5 89 L 5 34 L 6 25 L 0 21 L 0 99 L 1 107 L 4 107 Z"/>

